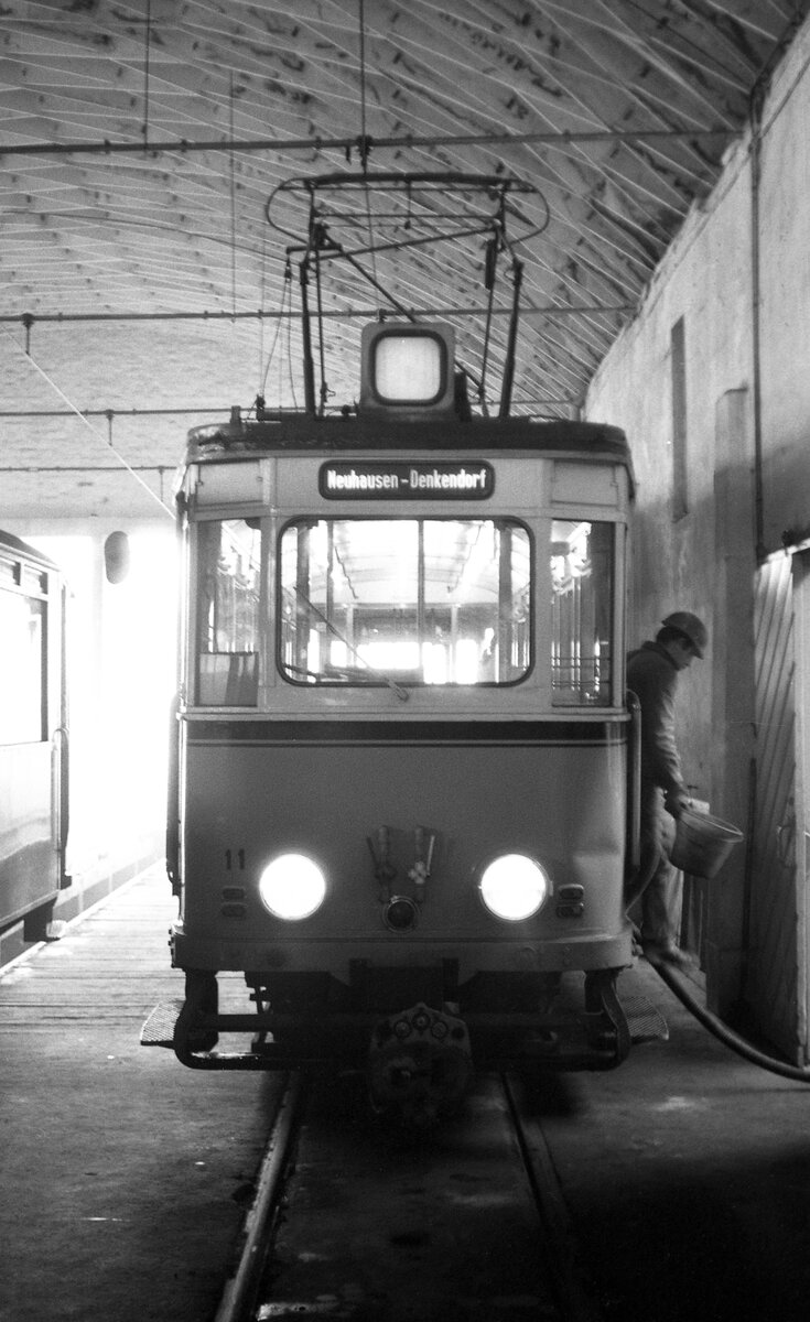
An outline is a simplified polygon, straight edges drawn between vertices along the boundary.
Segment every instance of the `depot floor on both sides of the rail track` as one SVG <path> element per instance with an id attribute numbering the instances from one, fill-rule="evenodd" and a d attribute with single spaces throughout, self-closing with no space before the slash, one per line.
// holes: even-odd
<path id="1" fill-rule="evenodd" d="M 139 1046 L 168 969 L 154 869 L 0 974 L 1 1322 L 209 1322 L 271 1075 Z M 641 962 L 670 1040 L 536 1107 L 608 1322 L 793 1322 L 810 1301 L 810 1088 L 709 1036 Z"/>

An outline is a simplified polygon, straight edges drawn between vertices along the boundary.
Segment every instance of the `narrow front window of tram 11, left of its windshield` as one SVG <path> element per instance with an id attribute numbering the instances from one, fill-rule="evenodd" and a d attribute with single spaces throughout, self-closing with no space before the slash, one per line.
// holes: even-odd
<path id="1" fill-rule="evenodd" d="M 197 702 L 254 707 L 261 533 L 244 518 L 197 525 Z"/>

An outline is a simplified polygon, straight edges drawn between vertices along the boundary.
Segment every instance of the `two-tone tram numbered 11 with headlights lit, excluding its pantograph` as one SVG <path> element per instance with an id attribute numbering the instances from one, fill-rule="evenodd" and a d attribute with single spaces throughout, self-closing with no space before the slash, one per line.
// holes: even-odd
<path id="1" fill-rule="evenodd" d="M 424 338 L 365 337 L 356 415 L 191 434 L 168 857 L 185 1064 L 441 1104 L 629 1047 L 631 473 L 615 428 L 459 419 Z"/>

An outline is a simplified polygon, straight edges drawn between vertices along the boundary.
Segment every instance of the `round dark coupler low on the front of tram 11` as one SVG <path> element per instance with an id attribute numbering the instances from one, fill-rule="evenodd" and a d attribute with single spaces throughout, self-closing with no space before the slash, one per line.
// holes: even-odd
<path id="1" fill-rule="evenodd" d="M 373 1029 L 368 1081 L 377 1110 L 428 1124 L 458 1107 L 472 1076 L 463 1019 L 420 1001 Z"/>

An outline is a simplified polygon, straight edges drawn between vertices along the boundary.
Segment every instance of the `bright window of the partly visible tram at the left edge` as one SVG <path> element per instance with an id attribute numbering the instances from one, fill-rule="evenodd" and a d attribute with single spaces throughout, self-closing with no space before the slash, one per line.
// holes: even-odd
<path id="1" fill-rule="evenodd" d="M 0 588 L 0 743 L 46 738 L 45 602 Z"/>

